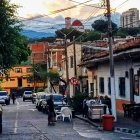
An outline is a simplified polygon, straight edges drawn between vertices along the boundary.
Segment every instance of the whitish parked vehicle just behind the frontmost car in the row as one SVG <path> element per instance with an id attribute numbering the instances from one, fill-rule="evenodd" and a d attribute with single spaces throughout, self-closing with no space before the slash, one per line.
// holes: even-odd
<path id="1" fill-rule="evenodd" d="M 38 92 L 38 93 L 36 94 L 36 101 L 35 101 L 35 104 L 36 104 L 36 108 L 37 108 L 39 111 L 42 111 L 42 101 L 45 100 L 45 95 L 46 95 L 45 92 Z"/>

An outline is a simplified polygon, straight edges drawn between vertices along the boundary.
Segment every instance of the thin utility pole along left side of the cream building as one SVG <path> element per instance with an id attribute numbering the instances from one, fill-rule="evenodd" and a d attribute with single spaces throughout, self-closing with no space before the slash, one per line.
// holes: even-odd
<path id="1" fill-rule="evenodd" d="M 69 70 L 68 70 L 68 56 L 67 56 L 67 40 L 66 40 L 66 34 L 64 34 L 64 41 L 65 41 L 65 62 L 66 62 L 66 82 L 67 82 L 67 85 L 66 85 L 66 90 L 67 90 L 67 98 L 69 99 L 70 97 L 70 93 L 69 93 Z"/>

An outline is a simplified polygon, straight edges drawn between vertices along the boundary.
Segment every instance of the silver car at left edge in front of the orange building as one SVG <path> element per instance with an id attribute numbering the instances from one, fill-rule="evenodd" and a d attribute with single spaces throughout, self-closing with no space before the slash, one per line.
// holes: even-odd
<path id="1" fill-rule="evenodd" d="M 10 96 L 7 91 L 0 91 L 0 104 L 10 104 Z"/>

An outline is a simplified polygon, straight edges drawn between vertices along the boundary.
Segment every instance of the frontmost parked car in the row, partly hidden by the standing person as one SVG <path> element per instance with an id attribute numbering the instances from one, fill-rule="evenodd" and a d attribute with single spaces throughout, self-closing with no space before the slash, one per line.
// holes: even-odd
<path id="1" fill-rule="evenodd" d="M 56 110 L 60 110 L 62 106 L 66 106 L 66 102 L 63 99 L 61 94 L 46 94 L 45 100 L 42 101 L 42 112 L 48 113 L 47 100 L 50 98 L 50 95 L 53 95 L 54 107 Z"/>

